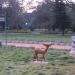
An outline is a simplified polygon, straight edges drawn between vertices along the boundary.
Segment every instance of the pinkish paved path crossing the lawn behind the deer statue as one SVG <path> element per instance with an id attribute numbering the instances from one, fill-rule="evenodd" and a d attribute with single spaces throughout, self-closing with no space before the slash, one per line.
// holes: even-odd
<path id="1" fill-rule="evenodd" d="M 6 45 L 6 43 L 2 42 L 2 45 Z M 42 44 L 27 44 L 27 43 L 15 43 L 15 42 L 8 42 L 7 46 L 15 46 L 15 47 L 41 47 Z M 65 49 L 70 50 L 71 46 L 64 46 L 64 45 L 52 45 L 50 48 L 52 49 Z"/>

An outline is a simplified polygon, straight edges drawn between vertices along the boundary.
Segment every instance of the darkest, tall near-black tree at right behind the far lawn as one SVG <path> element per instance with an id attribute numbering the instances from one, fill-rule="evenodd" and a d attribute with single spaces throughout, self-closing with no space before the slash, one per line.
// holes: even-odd
<path id="1" fill-rule="evenodd" d="M 63 0 L 55 0 L 55 28 L 58 28 L 62 31 L 64 35 L 65 29 L 70 27 L 70 18 L 66 14 L 66 4 Z"/>

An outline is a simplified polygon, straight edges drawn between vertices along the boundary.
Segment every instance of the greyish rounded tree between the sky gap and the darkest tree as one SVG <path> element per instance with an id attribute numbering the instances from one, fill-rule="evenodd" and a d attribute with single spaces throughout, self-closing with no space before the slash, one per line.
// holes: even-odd
<path id="1" fill-rule="evenodd" d="M 54 24 L 53 2 L 50 0 L 45 0 L 42 5 L 37 7 L 37 11 L 35 13 L 36 14 L 33 20 L 34 28 L 45 28 L 50 30 Z"/>

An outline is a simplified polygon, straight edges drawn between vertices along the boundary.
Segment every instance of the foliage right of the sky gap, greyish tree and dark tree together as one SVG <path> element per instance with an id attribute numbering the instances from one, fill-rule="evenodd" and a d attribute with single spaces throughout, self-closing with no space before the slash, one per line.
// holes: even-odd
<path id="1" fill-rule="evenodd" d="M 69 3 L 63 0 L 45 0 L 41 6 L 37 7 L 33 24 L 35 28 L 46 28 L 48 30 L 59 29 L 63 34 L 65 29 L 71 27 L 71 19 L 67 12 L 71 8 Z M 71 10 L 71 9 L 69 9 Z"/>

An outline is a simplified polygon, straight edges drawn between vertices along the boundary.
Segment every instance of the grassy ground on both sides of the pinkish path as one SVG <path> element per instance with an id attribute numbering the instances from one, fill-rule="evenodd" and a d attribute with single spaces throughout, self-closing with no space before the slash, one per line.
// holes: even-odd
<path id="1" fill-rule="evenodd" d="M 71 45 L 71 36 L 60 34 L 0 33 L 0 40 L 64 42 Z M 48 64 L 33 64 L 33 48 L 0 47 L 0 75 L 75 75 L 75 57 L 69 51 L 48 49 Z M 39 55 L 39 60 L 42 57 Z"/>

